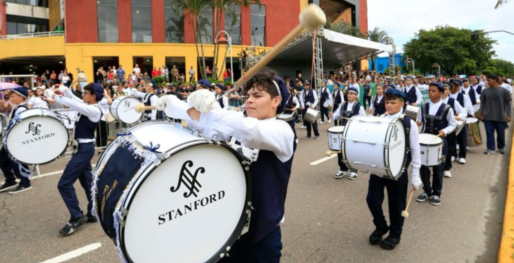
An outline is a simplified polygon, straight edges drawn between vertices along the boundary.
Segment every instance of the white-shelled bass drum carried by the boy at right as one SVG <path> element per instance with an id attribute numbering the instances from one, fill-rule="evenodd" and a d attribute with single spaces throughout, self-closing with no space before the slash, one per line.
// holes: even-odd
<path id="1" fill-rule="evenodd" d="M 407 162 L 405 124 L 399 118 L 354 116 L 342 138 L 343 161 L 359 170 L 398 179 Z"/>

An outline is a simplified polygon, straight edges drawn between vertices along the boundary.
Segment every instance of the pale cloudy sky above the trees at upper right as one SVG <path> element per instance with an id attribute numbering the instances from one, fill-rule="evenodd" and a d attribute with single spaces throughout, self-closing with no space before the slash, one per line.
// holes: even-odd
<path id="1" fill-rule="evenodd" d="M 497 0 L 368 0 L 368 30 L 379 27 L 386 31 L 399 52 L 419 29 L 439 25 L 514 33 L 514 1 L 494 9 L 496 3 Z M 498 58 L 514 63 L 514 35 L 499 32 L 489 37 L 498 41 L 493 45 Z"/>

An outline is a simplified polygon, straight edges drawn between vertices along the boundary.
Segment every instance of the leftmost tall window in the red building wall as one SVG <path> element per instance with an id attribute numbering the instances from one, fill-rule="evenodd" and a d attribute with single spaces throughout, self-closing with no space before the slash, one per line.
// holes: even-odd
<path id="1" fill-rule="evenodd" d="M 118 42 L 118 0 L 97 1 L 98 42 Z"/>

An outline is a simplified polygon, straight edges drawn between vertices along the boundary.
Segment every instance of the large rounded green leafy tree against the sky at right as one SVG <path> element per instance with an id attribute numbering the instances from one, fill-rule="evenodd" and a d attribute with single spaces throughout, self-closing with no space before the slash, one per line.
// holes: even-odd
<path id="1" fill-rule="evenodd" d="M 404 55 L 414 59 L 416 69 L 421 72 L 430 72 L 432 65 L 437 63 L 441 71 L 447 74 L 460 73 L 460 70 L 476 74 L 495 55 L 492 44 L 496 41 L 487 36 L 471 41 L 471 32 L 469 29 L 450 26 L 421 29 L 411 41 L 403 45 Z M 470 63 L 476 67 L 473 68 Z"/>

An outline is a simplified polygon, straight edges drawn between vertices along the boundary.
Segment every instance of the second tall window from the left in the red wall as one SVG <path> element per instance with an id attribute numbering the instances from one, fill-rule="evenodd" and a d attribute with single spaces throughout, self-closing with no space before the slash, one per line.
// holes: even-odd
<path id="1" fill-rule="evenodd" d="M 132 1 L 132 42 L 152 43 L 152 0 Z"/>

